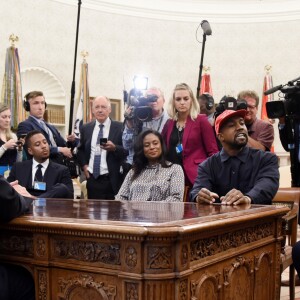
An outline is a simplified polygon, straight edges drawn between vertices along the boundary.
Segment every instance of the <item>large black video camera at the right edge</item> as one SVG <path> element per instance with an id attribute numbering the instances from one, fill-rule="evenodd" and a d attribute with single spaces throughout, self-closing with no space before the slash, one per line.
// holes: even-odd
<path id="1" fill-rule="evenodd" d="M 300 116 L 300 77 L 289 81 L 285 85 L 275 86 L 264 94 L 267 96 L 277 91 L 284 94 L 284 100 L 269 101 L 266 103 L 267 115 L 270 119 L 281 118 L 285 116 Z"/>

